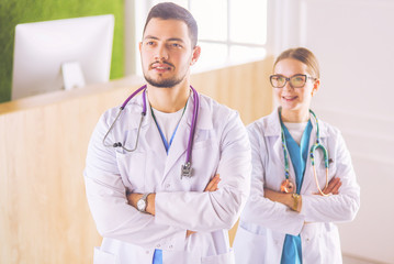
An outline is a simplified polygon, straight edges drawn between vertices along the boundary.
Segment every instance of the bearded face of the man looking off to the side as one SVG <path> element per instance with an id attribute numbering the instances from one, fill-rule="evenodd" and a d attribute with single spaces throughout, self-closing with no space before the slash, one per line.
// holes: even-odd
<path id="1" fill-rule="evenodd" d="M 180 20 L 151 19 L 139 51 L 147 82 L 166 88 L 182 82 L 200 56 L 200 47 L 192 48 L 188 25 Z"/>

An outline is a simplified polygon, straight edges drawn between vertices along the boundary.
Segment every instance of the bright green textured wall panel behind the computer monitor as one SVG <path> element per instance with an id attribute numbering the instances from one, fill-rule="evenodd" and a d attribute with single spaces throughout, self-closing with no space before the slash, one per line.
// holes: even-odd
<path id="1" fill-rule="evenodd" d="M 16 24 L 109 13 L 115 15 L 113 79 L 124 76 L 124 0 L 0 0 L 0 102 L 11 99 Z"/>

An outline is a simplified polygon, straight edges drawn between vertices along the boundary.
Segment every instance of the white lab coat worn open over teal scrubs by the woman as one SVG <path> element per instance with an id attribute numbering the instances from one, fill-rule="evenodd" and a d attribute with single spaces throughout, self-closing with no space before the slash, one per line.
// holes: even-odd
<path id="1" fill-rule="evenodd" d="M 234 241 L 237 264 L 280 263 L 286 233 L 301 234 L 304 264 L 342 263 L 339 233 L 334 222 L 351 221 L 356 217 L 360 207 L 360 187 L 356 182 L 350 155 L 340 132 L 322 120 L 318 123 L 322 143 L 330 158 L 329 179 L 334 176 L 339 177 L 342 186 L 338 195 L 314 195 L 318 190 L 308 156 L 301 188 L 300 213 L 263 197 L 263 186 L 279 191 L 284 180 L 278 110 L 248 125 L 252 150 L 252 176 L 250 197 L 241 213 Z M 315 142 L 316 125 L 313 122 L 309 146 Z M 315 166 L 323 189 L 326 174 L 322 156 L 318 150 L 315 154 Z M 290 178 L 295 183 L 293 164 L 290 162 L 289 165 Z"/>

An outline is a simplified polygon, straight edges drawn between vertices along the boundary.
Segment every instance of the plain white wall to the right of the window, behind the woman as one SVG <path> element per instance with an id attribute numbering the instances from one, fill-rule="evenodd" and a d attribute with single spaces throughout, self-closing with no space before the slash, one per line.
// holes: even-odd
<path id="1" fill-rule="evenodd" d="M 394 263 L 394 1 L 271 0 L 271 51 L 312 50 L 322 70 L 316 114 L 338 127 L 361 186 L 341 223 L 345 254 Z"/>

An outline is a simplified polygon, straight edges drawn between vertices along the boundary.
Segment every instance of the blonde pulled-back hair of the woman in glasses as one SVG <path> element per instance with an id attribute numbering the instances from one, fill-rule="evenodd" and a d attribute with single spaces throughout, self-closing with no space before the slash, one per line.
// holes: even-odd
<path id="1" fill-rule="evenodd" d="M 318 66 L 318 62 L 316 56 L 305 47 L 296 47 L 296 48 L 289 48 L 282 52 L 275 63 L 273 64 L 273 68 L 275 68 L 277 64 L 285 58 L 293 58 L 296 59 L 307 66 L 307 70 L 314 78 L 320 78 L 320 67 Z"/>

